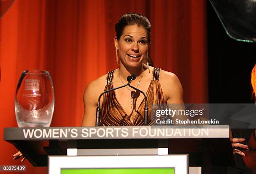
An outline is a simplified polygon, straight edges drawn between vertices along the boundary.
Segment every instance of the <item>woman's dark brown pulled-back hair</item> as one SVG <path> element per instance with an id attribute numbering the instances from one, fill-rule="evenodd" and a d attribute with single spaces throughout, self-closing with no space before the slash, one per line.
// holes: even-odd
<path id="1" fill-rule="evenodd" d="M 148 43 L 150 44 L 150 22 L 148 18 L 139 13 L 126 13 L 120 18 L 118 23 L 115 24 L 115 33 L 117 39 L 120 39 L 126 26 L 135 24 L 147 30 Z"/>

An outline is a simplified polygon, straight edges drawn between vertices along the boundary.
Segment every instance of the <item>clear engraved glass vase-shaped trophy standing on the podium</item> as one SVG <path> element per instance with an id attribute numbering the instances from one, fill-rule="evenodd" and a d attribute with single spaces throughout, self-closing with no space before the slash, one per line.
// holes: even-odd
<path id="1" fill-rule="evenodd" d="M 54 112 L 54 87 L 48 71 L 26 70 L 15 95 L 19 127 L 49 127 Z"/>

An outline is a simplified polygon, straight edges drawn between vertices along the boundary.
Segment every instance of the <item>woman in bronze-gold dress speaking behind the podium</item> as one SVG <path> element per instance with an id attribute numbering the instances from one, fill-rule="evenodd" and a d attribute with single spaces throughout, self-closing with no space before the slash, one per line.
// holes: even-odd
<path id="1" fill-rule="evenodd" d="M 131 74 L 137 76 L 131 86 L 146 93 L 149 116 L 153 103 L 183 103 L 182 86 L 177 76 L 148 66 L 148 63 L 143 64 L 143 60 L 148 59 L 150 29 L 149 20 L 137 13 L 127 13 L 115 24 L 115 58 L 119 68 L 88 84 L 84 91 L 82 126 L 95 126 L 95 109 L 100 93 L 124 85 Z M 144 96 L 130 87 L 106 93 L 100 100 L 100 106 L 100 121 L 104 126 L 143 125 Z M 154 124 L 151 118 L 148 124 Z"/>

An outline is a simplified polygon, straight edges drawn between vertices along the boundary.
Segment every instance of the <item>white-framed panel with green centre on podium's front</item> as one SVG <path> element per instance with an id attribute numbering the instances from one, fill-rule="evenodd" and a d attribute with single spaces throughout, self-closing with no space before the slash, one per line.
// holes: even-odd
<path id="1" fill-rule="evenodd" d="M 82 170 L 95 174 L 100 171 L 130 174 L 188 174 L 188 155 L 143 155 L 143 156 L 49 156 L 48 174 L 75 174 Z M 63 170 L 63 172 L 61 172 Z M 97 171 L 98 170 L 98 171 Z M 156 173 L 154 173 L 156 172 Z M 164 173 L 164 174 L 165 174 Z M 132 173 L 131 173 L 132 174 Z"/>

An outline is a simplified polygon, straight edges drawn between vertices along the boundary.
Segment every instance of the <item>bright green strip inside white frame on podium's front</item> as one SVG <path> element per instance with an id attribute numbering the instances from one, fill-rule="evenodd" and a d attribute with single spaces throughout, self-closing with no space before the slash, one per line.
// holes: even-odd
<path id="1" fill-rule="evenodd" d="M 61 169 L 61 174 L 174 174 L 174 168 Z"/>

